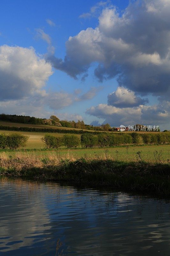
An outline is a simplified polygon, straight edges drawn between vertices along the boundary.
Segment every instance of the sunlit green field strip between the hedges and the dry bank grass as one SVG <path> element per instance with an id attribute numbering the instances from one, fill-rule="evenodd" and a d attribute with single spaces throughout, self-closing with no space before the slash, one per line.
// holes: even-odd
<path id="1" fill-rule="evenodd" d="M 36 142 L 35 142 L 36 143 Z M 170 145 L 129 145 L 129 146 L 115 146 L 113 148 L 59 148 L 59 149 L 18 149 L 18 150 L 9 150 L 9 149 L 0 149 L 1 154 L 5 154 L 9 157 L 15 158 L 18 157 L 20 153 L 26 153 L 27 155 L 34 155 L 40 158 L 51 157 L 51 155 L 60 155 L 65 157 L 71 155 L 74 159 L 81 157 L 86 157 L 90 159 L 97 158 L 100 155 L 103 155 L 107 152 L 112 159 L 118 161 L 131 161 L 134 162 L 139 160 L 141 157 L 142 161 L 155 162 L 158 159 L 165 162 L 167 159 L 170 159 Z M 140 153 L 139 153 L 140 152 Z M 140 154 L 139 155 L 137 154 Z"/>

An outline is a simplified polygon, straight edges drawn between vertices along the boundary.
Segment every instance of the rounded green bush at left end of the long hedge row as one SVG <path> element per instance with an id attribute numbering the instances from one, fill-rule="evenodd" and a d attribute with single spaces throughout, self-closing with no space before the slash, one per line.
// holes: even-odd
<path id="1" fill-rule="evenodd" d="M 63 144 L 61 137 L 56 137 L 51 134 L 45 134 L 41 140 L 46 144 L 46 148 L 59 148 Z"/>

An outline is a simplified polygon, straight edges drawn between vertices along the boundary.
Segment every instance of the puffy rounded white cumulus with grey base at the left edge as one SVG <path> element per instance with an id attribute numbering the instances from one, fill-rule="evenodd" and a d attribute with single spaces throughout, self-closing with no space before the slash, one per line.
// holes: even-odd
<path id="1" fill-rule="evenodd" d="M 51 65 L 33 48 L 0 46 L 0 100 L 33 95 L 52 74 Z"/>

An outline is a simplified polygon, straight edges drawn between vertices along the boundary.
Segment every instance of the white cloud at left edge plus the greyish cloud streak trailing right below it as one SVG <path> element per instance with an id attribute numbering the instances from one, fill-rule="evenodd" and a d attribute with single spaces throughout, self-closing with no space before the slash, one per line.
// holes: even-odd
<path id="1" fill-rule="evenodd" d="M 82 95 L 80 90 L 48 92 L 44 86 L 52 74 L 51 64 L 33 48 L 0 46 L 0 112 L 41 116 L 49 109 L 62 109 L 75 101 L 92 99 L 101 89 L 92 87 Z"/>

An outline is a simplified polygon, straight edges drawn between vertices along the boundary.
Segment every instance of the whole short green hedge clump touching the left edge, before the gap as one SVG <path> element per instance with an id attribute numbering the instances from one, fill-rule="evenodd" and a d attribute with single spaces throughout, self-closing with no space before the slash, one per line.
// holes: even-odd
<path id="1" fill-rule="evenodd" d="M 12 133 L 12 134 L 0 134 L 0 148 L 1 149 L 17 149 L 19 147 L 25 147 L 28 136 Z"/>

